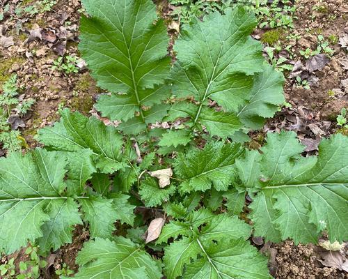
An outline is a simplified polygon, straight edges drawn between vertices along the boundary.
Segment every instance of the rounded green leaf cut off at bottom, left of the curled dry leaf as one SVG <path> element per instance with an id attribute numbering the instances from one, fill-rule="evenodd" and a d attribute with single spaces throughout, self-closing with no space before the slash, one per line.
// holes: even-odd
<path id="1" fill-rule="evenodd" d="M 74 278 L 160 279 L 161 269 L 150 255 L 122 236 L 95 239 L 84 244 L 77 256 L 79 272 Z"/>

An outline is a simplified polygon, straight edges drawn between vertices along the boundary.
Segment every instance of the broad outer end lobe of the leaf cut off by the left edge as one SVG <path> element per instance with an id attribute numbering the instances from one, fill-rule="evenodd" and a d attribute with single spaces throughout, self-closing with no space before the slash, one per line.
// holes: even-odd
<path id="1" fill-rule="evenodd" d="M 65 157 L 57 152 L 35 149 L 0 158 L 0 250 L 9 254 L 39 238 L 43 249 L 71 242 L 72 225 L 81 220 L 64 194 L 65 172 Z"/>

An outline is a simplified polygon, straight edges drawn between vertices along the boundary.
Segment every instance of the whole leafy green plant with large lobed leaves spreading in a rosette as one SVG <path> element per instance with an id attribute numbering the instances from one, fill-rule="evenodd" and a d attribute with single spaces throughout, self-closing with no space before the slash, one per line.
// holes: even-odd
<path id="1" fill-rule="evenodd" d="M 39 131 L 44 147 L 0 158 L 0 250 L 31 241 L 45 255 L 79 224 L 90 239 L 74 278 L 271 278 L 252 234 L 347 240 L 347 137 L 308 157 L 292 132 L 268 133 L 260 151 L 240 143 L 284 101 L 281 73 L 249 36 L 252 13 L 184 27 L 171 66 L 151 0 L 84 7 L 80 49 L 110 91 L 96 107 L 122 122 L 63 110 Z M 141 210 L 155 212 L 150 225 Z"/>

